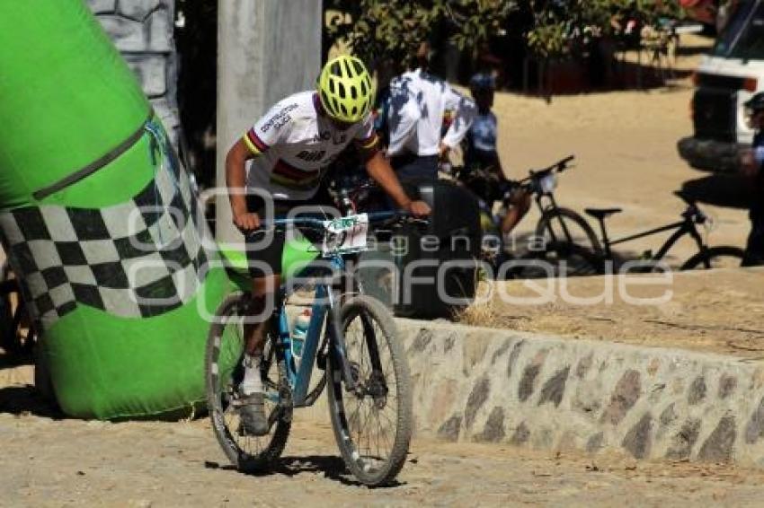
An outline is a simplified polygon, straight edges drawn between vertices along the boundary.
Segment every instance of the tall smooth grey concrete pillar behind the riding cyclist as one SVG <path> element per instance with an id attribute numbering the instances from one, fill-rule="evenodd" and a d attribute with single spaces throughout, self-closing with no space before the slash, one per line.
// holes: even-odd
<path id="1" fill-rule="evenodd" d="M 322 2 L 218 2 L 218 188 L 228 149 L 275 102 L 314 86 L 321 65 Z M 216 201 L 218 241 L 237 241 L 227 197 Z"/>

